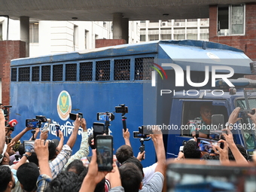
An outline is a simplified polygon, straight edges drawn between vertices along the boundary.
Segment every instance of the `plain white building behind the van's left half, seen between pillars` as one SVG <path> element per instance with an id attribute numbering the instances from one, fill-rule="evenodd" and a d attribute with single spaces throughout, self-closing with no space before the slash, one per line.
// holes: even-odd
<path id="1" fill-rule="evenodd" d="M 129 43 L 139 43 L 139 21 L 129 22 Z M 95 48 L 96 39 L 111 39 L 112 22 L 48 21 L 29 22 L 29 56 L 67 53 Z M 20 40 L 20 20 L 0 17 L 0 40 Z"/>

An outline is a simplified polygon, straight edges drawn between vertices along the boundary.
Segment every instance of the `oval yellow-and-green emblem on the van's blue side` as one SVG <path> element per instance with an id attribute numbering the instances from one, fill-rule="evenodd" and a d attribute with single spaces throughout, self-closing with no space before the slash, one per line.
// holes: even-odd
<path id="1" fill-rule="evenodd" d="M 62 90 L 59 93 L 57 100 L 57 111 L 59 118 L 62 120 L 67 120 L 69 118 L 69 113 L 72 109 L 72 101 L 69 93 L 66 90 Z"/>

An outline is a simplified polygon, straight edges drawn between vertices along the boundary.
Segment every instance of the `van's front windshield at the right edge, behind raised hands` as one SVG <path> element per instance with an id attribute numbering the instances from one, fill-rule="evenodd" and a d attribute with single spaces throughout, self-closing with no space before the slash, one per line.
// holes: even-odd
<path id="1" fill-rule="evenodd" d="M 242 119 L 239 122 L 238 128 L 242 130 L 246 147 L 247 149 L 255 149 L 256 124 L 248 117 L 249 111 L 247 110 L 245 99 L 237 99 L 236 106 L 241 108 L 239 117 L 242 117 Z M 256 108 L 256 98 L 249 98 L 248 106 L 249 108 Z"/>

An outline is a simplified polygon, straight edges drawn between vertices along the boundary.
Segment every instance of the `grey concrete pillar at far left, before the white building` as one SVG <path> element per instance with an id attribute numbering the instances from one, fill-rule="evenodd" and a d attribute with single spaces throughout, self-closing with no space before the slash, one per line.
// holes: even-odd
<path id="1" fill-rule="evenodd" d="M 26 42 L 26 57 L 29 57 L 29 17 L 20 17 L 20 41 Z"/>

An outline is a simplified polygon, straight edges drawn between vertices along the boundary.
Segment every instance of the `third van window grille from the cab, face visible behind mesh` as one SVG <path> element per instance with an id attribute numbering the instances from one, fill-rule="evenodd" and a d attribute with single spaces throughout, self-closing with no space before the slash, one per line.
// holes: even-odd
<path id="1" fill-rule="evenodd" d="M 110 80 L 110 60 L 96 61 L 96 81 Z"/>

